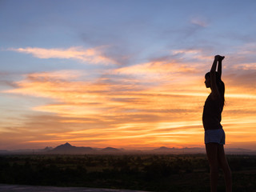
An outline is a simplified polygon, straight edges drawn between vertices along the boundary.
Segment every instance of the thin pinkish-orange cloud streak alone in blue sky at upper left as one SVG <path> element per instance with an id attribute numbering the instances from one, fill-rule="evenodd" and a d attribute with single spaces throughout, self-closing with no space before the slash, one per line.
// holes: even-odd
<path id="1" fill-rule="evenodd" d="M 114 60 L 102 53 L 100 48 L 84 49 L 82 47 L 70 47 L 68 49 L 53 48 L 45 49 L 39 47 L 10 48 L 8 50 L 24 54 L 32 54 L 36 58 L 64 58 L 77 59 L 92 64 L 113 64 Z"/>

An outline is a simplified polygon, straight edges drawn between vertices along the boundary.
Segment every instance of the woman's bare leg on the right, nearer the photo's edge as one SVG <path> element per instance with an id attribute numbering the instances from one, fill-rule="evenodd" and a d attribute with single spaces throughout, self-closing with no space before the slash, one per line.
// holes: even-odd
<path id="1" fill-rule="evenodd" d="M 224 172 L 226 182 L 226 192 L 232 191 L 232 175 L 229 163 L 226 161 L 226 155 L 223 145 L 218 146 L 218 164 Z"/>

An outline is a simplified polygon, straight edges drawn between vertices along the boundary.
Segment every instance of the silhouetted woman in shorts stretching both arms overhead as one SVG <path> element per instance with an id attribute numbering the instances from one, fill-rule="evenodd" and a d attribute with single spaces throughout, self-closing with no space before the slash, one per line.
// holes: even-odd
<path id="1" fill-rule="evenodd" d="M 224 57 L 216 55 L 214 63 L 205 76 L 206 87 L 211 90 L 206 99 L 202 114 L 202 122 L 205 129 L 206 154 L 210 165 L 210 191 L 217 192 L 218 167 L 222 168 L 225 176 L 226 191 L 232 191 L 232 178 L 223 145 L 225 144 L 225 132 L 222 129 L 222 110 L 225 102 L 225 85 L 222 82 L 222 60 Z M 218 70 L 216 72 L 218 62 Z"/>

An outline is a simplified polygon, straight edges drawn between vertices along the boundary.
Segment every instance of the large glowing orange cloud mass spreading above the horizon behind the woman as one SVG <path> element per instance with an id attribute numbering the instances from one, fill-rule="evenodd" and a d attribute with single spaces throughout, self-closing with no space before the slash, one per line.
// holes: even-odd
<path id="1" fill-rule="evenodd" d="M 198 76 L 202 74 L 193 73 L 198 68 L 156 60 L 107 70 L 101 78 L 84 79 L 84 72 L 77 70 L 34 73 L 5 93 L 47 98 L 46 104 L 31 110 L 54 118 L 47 122 L 47 117 L 30 116 L 23 131 L 30 135 L 27 143 L 202 146 L 202 109 L 208 90 L 203 76 Z M 242 142 L 238 139 L 240 126 L 246 127 L 244 137 L 249 141 L 256 134 L 255 92 L 234 88 L 226 89 L 222 116 L 228 142 L 233 144 Z"/>

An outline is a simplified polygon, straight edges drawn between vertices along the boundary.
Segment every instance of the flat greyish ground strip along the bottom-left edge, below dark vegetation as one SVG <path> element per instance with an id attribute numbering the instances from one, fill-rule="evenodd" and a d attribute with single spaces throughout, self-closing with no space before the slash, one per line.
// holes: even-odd
<path id="1" fill-rule="evenodd" d="M 2 192 L 137 192 L 138 190 L 109 190 L 86 187 L 22 186 L 0 184 Z M 142 191 L 138 191 L 142 192 Z"/>

